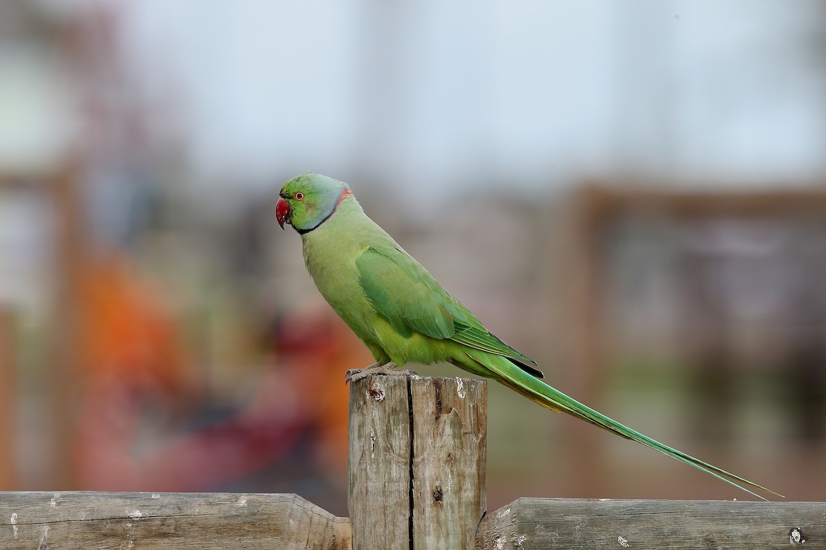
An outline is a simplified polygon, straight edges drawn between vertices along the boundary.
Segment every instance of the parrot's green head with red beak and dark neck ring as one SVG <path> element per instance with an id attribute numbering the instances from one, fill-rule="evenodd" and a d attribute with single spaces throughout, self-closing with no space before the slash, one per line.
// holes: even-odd
<path id="1" fill-rule="evenodd" d="M 344 181 L 310 173 L 287 181 L 279 195 L 275 205 L 278 225 L 283 229 L 289 223 L 298 233 L 306 233 L 330 218 L 351 193 Z"/>

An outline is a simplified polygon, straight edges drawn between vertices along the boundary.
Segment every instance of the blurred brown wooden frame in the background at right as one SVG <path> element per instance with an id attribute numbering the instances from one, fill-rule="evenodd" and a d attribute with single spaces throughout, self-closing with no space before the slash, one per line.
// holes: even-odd
<path id="1" fill-rule="evenodd" d="M 710 189 L 710 186 L 703 186 Z M 725 186 L 721 186 L 724 188 Z M 566 285 L 557 297 L 567 321 L 568 362 L 565 388 L 599 408 L 610 363 L 605 326 L 606 243 L 612 225 L 637 215 L 653 214 L 675 223 L 702 220 L 826 220 L 826 190 L 683 191 L 635 188 L 631 184 L 588 184 L 572 195 L 567 209 Z M 729 186 L 730 189 L 730 186 Z M 826 366 L 824 366 L 826 368 Z M 605 487 L 607 461 L 587 426 L 566 428 L 566 476 L 577 491 L 596 494 Z"/>

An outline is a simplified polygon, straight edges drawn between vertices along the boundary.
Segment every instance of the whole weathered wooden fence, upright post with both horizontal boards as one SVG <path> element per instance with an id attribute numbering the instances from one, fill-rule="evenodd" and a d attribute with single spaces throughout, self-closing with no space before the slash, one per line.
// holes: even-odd
<path id="1" fill-rule="evenodd" d="M 350 392 L 349 514 L 296 495 L 0 492 L 0 548 L 826 548 L 826 503 L 521 498 L 485 515 L 487 385 Z"/>

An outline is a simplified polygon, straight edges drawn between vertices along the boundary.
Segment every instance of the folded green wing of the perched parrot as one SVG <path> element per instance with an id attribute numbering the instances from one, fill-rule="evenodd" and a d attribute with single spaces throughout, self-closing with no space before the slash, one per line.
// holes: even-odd
<path id="1" fill-rule="evenodd" d="M 453 298 L 405 251 L 392 245 L 369 247 L 358 256 L 358 282 L 376 311 L 402 336 L 415 332 L 437 340 L 450 339 L 464 346 L 515 360 L 520 366 L 536 364 L 482 326 L 462 303 Z M 541 373 L 539 373 L 541 375 Z"/>

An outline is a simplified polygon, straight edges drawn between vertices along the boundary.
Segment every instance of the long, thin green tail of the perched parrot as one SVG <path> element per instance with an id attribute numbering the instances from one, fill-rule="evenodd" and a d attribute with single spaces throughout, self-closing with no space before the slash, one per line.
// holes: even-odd
<path id="1" fill-rule="evenodd" d="M 685 454 L 680 450 L 669 447 L 666 444 L 662 444 L 657 440 L 653 440 L 648 437 L 648 435 L 641 434 L 637 430 L 632 430 L 628 426 L 620 424 L 614 419 L 605 416 L 601 412 L 595 411 L 591 407 L 583 405 L 576 399 L 568 397 L 558 389 L 551 388 L 548 384 L 539 380 L 539 378 L 534 378 L 530 374 L 525 373 L 522 369 L 517 367 L 515 364 L 511 364 L 510 361 L 506 360 L 504 357 L 491 357 L 491 355 L 484 354 L 483 352 L 477 354 L 475 350 L 468 352 L 468 355 L 470 355 L 472 359 L 485 365 L 488 369 L 491 369 L 494 373 L 492 378 L 496 378 L 496 380 L 505 384 L 508 388 L 521 393 L 525 397 L 528 397 L 531 401 L 537 402 L 543 407 L 547 407 L 552 411 L 565 412 L 571 416 L 576 416 L 581 420 L 597 425 L 613 434 L 620 435 L 629 440 L 634 440 L 637 443 L 645 445 L 646 447 L 650 447 L 651 449 L 656 449 L 662 454 L 667 454 L 682 463 L 689 464 L 690 466 L 702 470 L 703 472 L 710 473 L 712 476 L 717 477 L 718 479 L 721 479 L 734 487 L 738 487 L 753 496 L 757 496 L 757 498 L 764 501 L 767 500 L 765 497 L 758 495 L 748 487 L 755 490 L 767 491 L 773 495 L 782 497 L 780 493 L 771 491 L 771 489 L 762 487 L 762 485 L 757 485 L 757 483 L 750 482 L 748 479 L 736 476 L 731 472 L 726 472 L 722 468 L 717 468 L 713 464 L 703 462 L 699 458 L 694 458 L 690 454 Z"/>

